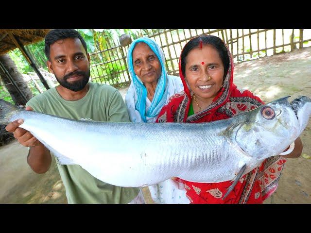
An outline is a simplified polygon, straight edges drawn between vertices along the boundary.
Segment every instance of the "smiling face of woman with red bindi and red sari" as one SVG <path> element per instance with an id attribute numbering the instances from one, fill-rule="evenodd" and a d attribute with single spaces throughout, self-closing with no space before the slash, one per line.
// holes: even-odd
<path id="1" fill-rule="evenodd" d="M 224 78 L 224 65 L 218 51 L 210 45 L 191 50 L 187 55 L 185 75 L 196 97 L 214 99 Z"/>

